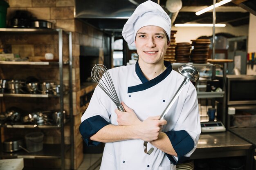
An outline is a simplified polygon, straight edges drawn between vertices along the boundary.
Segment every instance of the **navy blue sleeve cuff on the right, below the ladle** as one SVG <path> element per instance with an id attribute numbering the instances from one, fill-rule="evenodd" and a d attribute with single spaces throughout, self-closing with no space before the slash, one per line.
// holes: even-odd
<path id="1" fill-rule="evenodd" d="M 176 165 L 177 163 L 181 163 L 189 159 L 189 157 L 184 157 L 187 153 L 189 153 L 194 148 L 194 140 L 191 138 L 186 130 L 179 131 L 168 131 L 165 132 L 168 138 L 173 145 L 173 149 L 177 153 L 178 160 L 176 161 L 172 155 L 166 154 L 168 159 Z"/>

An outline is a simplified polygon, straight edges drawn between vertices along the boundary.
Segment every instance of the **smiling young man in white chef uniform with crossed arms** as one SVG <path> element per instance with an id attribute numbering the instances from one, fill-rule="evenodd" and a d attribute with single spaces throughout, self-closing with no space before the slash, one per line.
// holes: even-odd
<path id="1" fill-rule="evenodd" d="M 136 64 L 112 68 L 118 97 L 126 112 L 97 86 L 81 118 L 80 132 L 87 145 L 104 142 L 100 170 L 176 170 L 190 157 L 200 136 L 195 87 L 183 88 L 165 120 L 158 120 L 184 77 L 164 61 L 170 43 L 171 20 L 158 4 L 140 4 L 124 25 L 122 35 L 135 45 Z M 154 148 L 148 155 L 147 148 Z"/>

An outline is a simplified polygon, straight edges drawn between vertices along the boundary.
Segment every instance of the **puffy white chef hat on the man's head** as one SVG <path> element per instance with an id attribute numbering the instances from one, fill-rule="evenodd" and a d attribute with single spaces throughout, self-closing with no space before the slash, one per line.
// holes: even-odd
<path id="1" fill-rule="evenodd" d="M 143 26 L 159 26 L 171 35 L 171 19 L 162 7 L 150 0 L 140 4 L 124 25 L 122 35 L 129 45 L 135 46 L 137 31 Z"/>

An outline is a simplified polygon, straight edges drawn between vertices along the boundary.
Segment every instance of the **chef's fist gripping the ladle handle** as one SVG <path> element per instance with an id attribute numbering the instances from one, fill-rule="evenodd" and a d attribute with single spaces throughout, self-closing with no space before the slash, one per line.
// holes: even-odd
<path id="1" fill-rule="evenodd" d="M 158 139 L 160 132 L 162 131 L 162 126 L 167 124 L 167 121 L 162 119 L 159 120 L 160 116 L 148 117 L 139 124 L 137 128 L 137 134 L 139 139 L 144 141 L 153 141 Z"/>

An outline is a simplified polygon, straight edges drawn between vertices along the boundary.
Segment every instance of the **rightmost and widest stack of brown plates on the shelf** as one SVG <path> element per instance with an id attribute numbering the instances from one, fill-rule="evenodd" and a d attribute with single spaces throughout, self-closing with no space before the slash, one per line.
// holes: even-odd
<path id="1" fill-rule="evenodd" d="M 191 51 L 190 55 L 191 61 L 193 63 L 207 63 L 209 45 L 211 44 L 211 40 L 198 39 L 191 41 L 192 46 L 194 46 L 194 49 Z"/>

